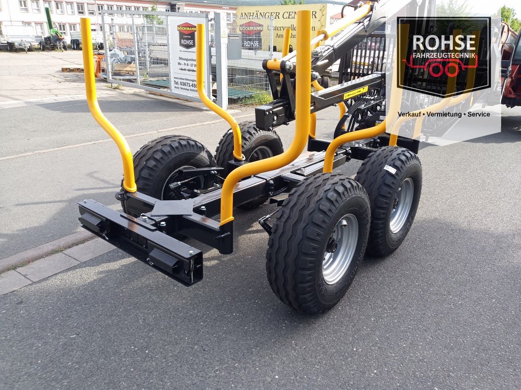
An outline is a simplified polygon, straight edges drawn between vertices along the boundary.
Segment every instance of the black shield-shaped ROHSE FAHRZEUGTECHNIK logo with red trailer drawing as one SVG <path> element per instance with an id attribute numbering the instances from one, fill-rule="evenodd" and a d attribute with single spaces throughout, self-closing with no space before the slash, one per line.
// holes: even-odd
<path id="1" fill-rule="evenodd" d="M 440 97 L 490 88 L 490 18 L 397 19 L 399 88 Z"/>

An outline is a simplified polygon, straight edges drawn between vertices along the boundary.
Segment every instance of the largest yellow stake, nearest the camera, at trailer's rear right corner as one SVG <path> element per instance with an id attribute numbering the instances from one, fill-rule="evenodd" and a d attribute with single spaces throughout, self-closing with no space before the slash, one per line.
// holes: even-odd
<path id="1" fill-rule="evenodd" d="M 311 115 L 311 11 L 297 11 L 297 54 L 296 54 L 296 122 L 295 137 L 288 150 L 282 154 L 265 160 L 254 161 L 235 168 L 231 171 L 221 191 L 221 221 L 225 225 L 233 220 L 233 189 L 244 177 L 257 175 L 281 168 L 293 162 L 304 150 L 309 134 L 309 119 Z M 197 32 L 199 34 L 199 31 Z"/>

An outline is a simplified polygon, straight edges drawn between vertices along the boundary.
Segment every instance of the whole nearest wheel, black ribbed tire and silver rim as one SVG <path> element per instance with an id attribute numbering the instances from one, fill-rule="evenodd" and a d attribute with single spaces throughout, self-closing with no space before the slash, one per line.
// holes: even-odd
<path id="1" fill-rule="evenodd" d="M 297 185 L 281 206 L 266 253 L 271 289 L 306 314 L 336 305 L 364 257 L 370 204 L 361 184 L 317 174 Z"/>

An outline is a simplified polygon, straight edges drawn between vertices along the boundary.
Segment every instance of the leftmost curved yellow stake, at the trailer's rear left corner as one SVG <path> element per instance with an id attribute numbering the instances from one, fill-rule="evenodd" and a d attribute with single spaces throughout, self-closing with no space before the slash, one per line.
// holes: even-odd
<path id="1" fill-rule="evenodd" d="M 137 191 L 134 178 L 134 162 L 132 161 L 132 152 L 125 137 L 121 135 L 116 127 L 111 124 L 100 110 L 96 98 L 96 82 L 94 79 L 94 55 L 92 53 L 92 34 L 91 20 L 89 18 L 81 18 L 81 46 L 83 52 L 83 69 L 85 74 L 85 92 L 89 110 L 96 122 L 107 132 L 107 134 L 116 142 L 121 161 L 123 163 L 123 188 L 128 192 Z M 108 59 L 107 59 L 108 62 Z"/>

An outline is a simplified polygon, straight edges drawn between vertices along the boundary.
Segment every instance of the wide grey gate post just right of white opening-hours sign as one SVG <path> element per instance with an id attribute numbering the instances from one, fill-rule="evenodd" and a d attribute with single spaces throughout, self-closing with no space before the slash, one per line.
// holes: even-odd
<path id="1" fill-rule="evenodd" d="M 226 13 L 216 12 L 214 18 L 217 105 L 226 110 L 228 108 L 228 25 L 226 24 Z M 209 82 L 211 84 L 212 80 L 210 79 Z"/>

